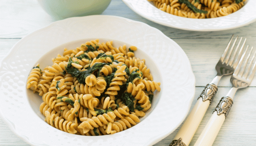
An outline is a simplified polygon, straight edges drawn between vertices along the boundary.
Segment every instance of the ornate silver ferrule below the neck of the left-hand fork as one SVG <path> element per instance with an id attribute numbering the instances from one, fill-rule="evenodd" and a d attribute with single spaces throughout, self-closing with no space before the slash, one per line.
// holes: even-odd
<path id="1" fill-rule="evenodd" d="M 206 100 L 210 100 L 210 104 L 211 104 L 217 91 L 218 91 L 218 87 L 216 85 L 207 84 L 204 90 L 202 91 L 202 93 L 200 94 L 200 96 L 198 97 L 198 99 L 202 98 L 203 102 L 205 102 Z"/>

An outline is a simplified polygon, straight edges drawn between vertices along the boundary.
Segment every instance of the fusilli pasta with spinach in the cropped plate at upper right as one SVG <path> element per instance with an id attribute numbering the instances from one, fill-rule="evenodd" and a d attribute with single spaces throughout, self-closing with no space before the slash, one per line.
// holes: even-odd
<path id="1" fill-rule="evenodd" d="M 188 4 L 179 0 L 148 0 L 158 9 L 169 14 L 186 18 L 216 18 L 226 16 L 241 9 L 246 0 L 188 0 Z M 196 9 L 196 10 L 195 10 Z"/>

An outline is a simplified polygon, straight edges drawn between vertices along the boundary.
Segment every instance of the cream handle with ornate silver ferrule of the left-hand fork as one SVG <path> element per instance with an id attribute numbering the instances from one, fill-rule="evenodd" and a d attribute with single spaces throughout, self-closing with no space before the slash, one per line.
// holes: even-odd
<path id="1" fill-rule="evenodd" d="M 189 145 L 217 90 L 218 87 L 215 84 L 208 84 L 205 86 L 186 121 L 183 123 L 169 146 Z"/>

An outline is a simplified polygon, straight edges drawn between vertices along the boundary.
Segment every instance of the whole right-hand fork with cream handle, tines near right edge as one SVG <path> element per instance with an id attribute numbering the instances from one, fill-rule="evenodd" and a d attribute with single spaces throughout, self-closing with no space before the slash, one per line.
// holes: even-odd
<path id="1" fill-rule="evenodd" d="M 248 65 L 248 60 L 250 59 L 253 47 L 251 48 L 251 51 L 248 54 L 246 60 L 243 61 L 245 59 L 247 49 L 248 46 L 241 60 L 239 61 L 233 75 L 231 76 L 230 81 L 232 83 L 232 88 L 229 90 L 226 96 L 220 99 L 220 102 L 213 111 L 213 115 L 209 119 L 208 123 L 206 124 L 203 132 L 200 134 L 197 141 L 195 142 L 194 146 L 211 146 L 213 144 L 216 136 L 218 135 L 220 127 L 222 126 L 225 118 L 227 118 L 229 110 L 232 107 L 233 98 L 236 94 L 236 91 L 241 88 L 246 88 L 251 84 L 251 81 L 256 71 L 256 62 L 252 66 L 253 60 L 255 59 L 256 51 Z M 242 64 L 243 67 L 241 67 Z"/>

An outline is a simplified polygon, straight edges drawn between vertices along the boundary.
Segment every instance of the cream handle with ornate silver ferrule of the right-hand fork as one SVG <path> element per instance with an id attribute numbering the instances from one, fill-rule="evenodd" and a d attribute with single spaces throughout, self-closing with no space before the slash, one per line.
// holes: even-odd
<path id="1" fill-rule="evenodd" d="M 194 146 L 211 146 L 222 127 L 228 112 L 233 105 L 232 98 L 224 96 L 220 99 L 217 107 L 213 111 L 213 115 L 206 124 L 204 130 L 198 137 Z"/>

